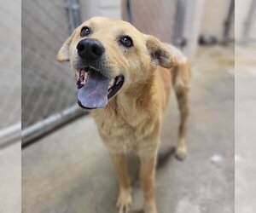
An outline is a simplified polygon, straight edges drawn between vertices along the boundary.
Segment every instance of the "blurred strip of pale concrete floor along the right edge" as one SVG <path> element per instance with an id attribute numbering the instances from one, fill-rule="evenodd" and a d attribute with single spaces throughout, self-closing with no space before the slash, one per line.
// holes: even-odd
<path id="1" fill-rule="evenodd" d="M 236 212 L 256 210 L 256 44 L 236 47 Z"/>

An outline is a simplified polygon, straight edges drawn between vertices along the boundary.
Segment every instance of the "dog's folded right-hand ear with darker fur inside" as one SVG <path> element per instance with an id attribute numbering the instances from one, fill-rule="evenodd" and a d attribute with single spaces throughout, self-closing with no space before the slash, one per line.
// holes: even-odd
<path id="1" fill-rule="evenodd" d="M 145 37 L 146 46 L 151 56 L 152 63 L 165 68 L 172 68 L 172 66 L 174 66 L 174 57 L 171 49 L 154 36 L 145 35 Z"/>

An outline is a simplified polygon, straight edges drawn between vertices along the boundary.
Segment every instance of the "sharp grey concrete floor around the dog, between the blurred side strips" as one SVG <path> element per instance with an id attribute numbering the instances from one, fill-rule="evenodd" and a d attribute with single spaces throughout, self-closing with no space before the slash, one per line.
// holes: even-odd
<path id="1" fill-rule="evenodd" d="M 233 213 L 234 49 L 201 48 L 193 66 L 189 157 L 172 156 L 177 106 L 172 99 L 156 173 L 160 213 Z M 133 213 L 141 213 L 137 158 L 130 158 Z M 80 118 L 22 152 L 22 212 L 113 213 L 118 185 L 96 124 Z M 239 212 L 241 213 L 241 212 Z"/>

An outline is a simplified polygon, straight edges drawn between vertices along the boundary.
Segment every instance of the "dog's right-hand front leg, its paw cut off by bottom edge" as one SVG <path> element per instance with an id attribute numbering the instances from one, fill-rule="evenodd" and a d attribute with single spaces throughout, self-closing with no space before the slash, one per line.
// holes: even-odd
<path id="1" fill-rule="evenodd" d="M 156 165 L 156 150 L 154 152 L 141 153 L 140 178 L 144 196 L 144 212 L 157 213 L 155 204 L 154 173 Z"/>

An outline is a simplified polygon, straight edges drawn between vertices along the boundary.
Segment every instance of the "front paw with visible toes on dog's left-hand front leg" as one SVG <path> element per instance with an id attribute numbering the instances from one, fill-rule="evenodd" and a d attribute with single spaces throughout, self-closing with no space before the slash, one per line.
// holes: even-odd
<path id="1" fill-rule="evenodd" d="M 131 208 L 131 190 L 121 190 L 116 205 L 119 213 L 129 213 Z"/>

